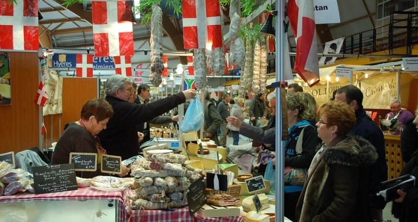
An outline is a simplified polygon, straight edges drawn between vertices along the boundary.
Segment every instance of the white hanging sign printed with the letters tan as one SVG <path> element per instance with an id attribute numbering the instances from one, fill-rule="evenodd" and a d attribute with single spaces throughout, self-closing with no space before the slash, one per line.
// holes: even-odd
<path id="1" fill-rule="evenodd" d="M 339 23 L 337 0 L 314 0 L 315 24 Z"/>

